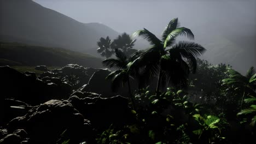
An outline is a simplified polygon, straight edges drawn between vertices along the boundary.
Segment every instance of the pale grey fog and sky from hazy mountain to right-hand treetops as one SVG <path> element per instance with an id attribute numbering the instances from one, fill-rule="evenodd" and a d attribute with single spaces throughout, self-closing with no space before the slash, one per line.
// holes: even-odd
<path id="1" fill-rule="evenodd" d="M 119 33 L 147 28 L 159 36 L 167 23 L 178 17 L 182 26 L 193 31 L 196 42 L 207 49 L 205 59 L 213 64 L 230 63 L 241 72 L 255 66 L 255 0 L 34 2 L 83 23 L 103 23 Z"/>

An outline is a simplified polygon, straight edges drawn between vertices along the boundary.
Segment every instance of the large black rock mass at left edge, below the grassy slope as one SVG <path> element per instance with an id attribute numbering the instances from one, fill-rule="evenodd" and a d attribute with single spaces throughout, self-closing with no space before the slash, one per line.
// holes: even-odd
<path id="1" fill-rule="evenodd" d="M 37 105 L 53 98 L 68 98 L 72 93 L 63 91 L 62 87 L 48 85 L 33 74 L 31 76 L 31 73 L 22 74 L 8 66 L 0 67 L 0 80 L 0 101 L 13 98 L 30 105 Z"/>

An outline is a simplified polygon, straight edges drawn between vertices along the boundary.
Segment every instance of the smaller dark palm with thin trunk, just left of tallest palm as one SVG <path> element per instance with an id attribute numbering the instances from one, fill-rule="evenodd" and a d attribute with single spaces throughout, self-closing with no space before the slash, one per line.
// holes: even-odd
<path id="1" fill-rule="evenodd" d="M 112 73 L 110 73 L 106 77 L 106 79 L 112 80 L 112 91 L 114 92 L 117 90 L 120 84 L 124 87 L 125 83 L 127 83 L 132 106 L 133 106 L 133 109 L 135 109 L 135 102 L 131 92 L 131 85 L 130 85 L 131 73 L 128 73 L 127 65 L 129 65 L 131 61 L 137 58 L 137 55 L 133 55 L 132 57 L 127 58 L 124 52 L 122 52 L 119 49 L 115 49 L 115 56 L 117 57 L 117 59 L 108 58 L 102 62 L 103 65 L 106 67 L 118 68 L 118 70 L 115 70 Z"/>

